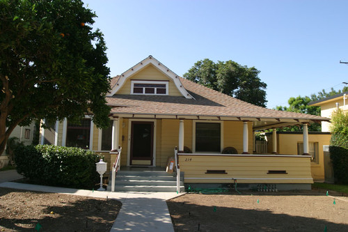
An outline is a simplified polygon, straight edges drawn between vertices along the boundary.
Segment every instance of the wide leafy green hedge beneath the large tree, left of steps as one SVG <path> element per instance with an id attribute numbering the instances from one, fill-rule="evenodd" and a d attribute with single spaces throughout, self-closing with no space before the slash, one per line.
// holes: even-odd
<path id="1" fill-rule="evenodd" d="M 14 152 L 18 173 L 35 183 L 75 188 L 98 183 L 95 163 L 102 157 L 90 150 L 38 145 L 18 146 Z"/>

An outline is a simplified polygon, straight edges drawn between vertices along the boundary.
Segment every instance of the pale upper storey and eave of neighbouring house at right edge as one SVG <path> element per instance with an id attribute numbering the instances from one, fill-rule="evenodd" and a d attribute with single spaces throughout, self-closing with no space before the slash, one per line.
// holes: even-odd
<path id="1" fill-rule="evenodd" d="M 340 108 L 343 111 L 348 111 L 348 92 L 333 95 L 329 98 L 310 102 L 308 105 L 320 107 L 320 112 L 323 117 L 331 118 L 331 114 L 336 109 Z M 330 132 L 330 123 L 322 122 L 322 132 Z"/>

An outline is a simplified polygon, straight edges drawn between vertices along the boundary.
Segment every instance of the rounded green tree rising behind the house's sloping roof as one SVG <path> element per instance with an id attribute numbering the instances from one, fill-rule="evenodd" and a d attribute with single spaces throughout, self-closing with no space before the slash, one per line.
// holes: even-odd
<path id="1" fill-rule="evenodd" d="M 267 84 L 261 82 L 259 73 L 256 68 L 248 68 L 235 61 L 214 63 L 204 59 L 197 61 L 184 77 L 245 102 L 266 107 Z"/>

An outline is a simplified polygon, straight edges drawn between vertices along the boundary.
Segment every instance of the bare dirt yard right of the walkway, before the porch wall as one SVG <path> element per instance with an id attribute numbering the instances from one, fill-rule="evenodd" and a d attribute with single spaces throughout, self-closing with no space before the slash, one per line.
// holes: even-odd
<path id="1" fill-rule="evenodd" d="M 185 194 L 167 201 L 176 231 L 348 231 L 348 197 Z"/>

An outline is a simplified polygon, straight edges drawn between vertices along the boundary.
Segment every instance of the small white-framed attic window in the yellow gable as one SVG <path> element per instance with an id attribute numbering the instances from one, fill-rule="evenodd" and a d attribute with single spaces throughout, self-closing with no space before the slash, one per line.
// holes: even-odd
<path id="1" fill-rule="evenodd" d="M 132 94 L 168 95 L 168 82 L 132 81 Z"/>

